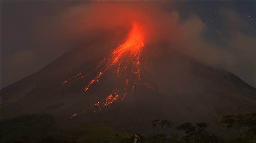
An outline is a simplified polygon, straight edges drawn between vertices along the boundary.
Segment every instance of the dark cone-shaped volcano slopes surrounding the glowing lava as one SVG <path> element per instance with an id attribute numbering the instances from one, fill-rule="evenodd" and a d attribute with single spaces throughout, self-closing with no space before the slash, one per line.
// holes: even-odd
<path id="1" fill-rule="evenodd" d="M 115 98 L 113 91 L 126 81 L 115 82 L 116 74 L 111 74 L 111 70 L 85 91 L 100 72 L 90 71 L 118 45 L 91 41 L 1 89 L 1 120 L 20 114 L 50 113 L 63 128 L 105 122 L 136 132 L 150 129 L 154 119 L 167 119 L 175 124 L 218 123 L 222 115 L 256 108 L 255 88 L 230 72 L 170 52 L 164 44 L 145 45 L 149 48 L 148 70 L 140 74 L 136 88 L 127 87 L 129 92 L 124 100 L 123 94 L 116 93 Z M 85 73 L 89 74 L 81 78 Z"/>

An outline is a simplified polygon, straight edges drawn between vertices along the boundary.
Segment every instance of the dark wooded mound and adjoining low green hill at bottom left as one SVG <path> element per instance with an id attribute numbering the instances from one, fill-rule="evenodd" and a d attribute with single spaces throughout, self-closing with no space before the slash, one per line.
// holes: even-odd
<path id="1" fill-rule="evenodd" d="M 104 124 L 85 124 L 56 132 L 52 115 L 21 115 L 1 122 L 1 143 L 126 143 L 132 135 Z"/>

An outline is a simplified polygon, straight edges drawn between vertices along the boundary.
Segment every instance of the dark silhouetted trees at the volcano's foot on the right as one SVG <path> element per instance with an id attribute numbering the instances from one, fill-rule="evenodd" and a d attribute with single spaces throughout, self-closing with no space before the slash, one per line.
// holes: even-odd
<path id="1" fill-rule="evenodd" d="M 220 122 L 225 129 L 235 130 L 237 137 L 225 141 L 214 134 L 208 133 L 207 123 L 186 122 L 175 127 L 175 131 L 168 137 L 165 129 L 172 128 L 173 123 L 168 120 L 153 120 L 152 129 L 156 129 L 155 135 L 150 136 L 144 142 L 152 143 L 255 143 L 256 142 L 256 113 L 245 113 L 239 115 L 225 115 Z"/>

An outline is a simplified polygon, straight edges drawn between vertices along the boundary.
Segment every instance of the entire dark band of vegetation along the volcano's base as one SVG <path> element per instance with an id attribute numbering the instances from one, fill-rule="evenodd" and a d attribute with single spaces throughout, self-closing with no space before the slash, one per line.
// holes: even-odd
<path id="1" fill-rule="evenodd" d="M 222 116 L 220 122 L 236 136 L 224 140 L 206 131 L 208 124 L 186 122 L 175 125 L 168 120 L 153 120 L 150 135 L 140 143 L 255 143 L 256 113 Z M 168 132 L 171 131 L 171 132 Z M 134 133 L 116 131 L 103 123 L 83 124 L 57 130 L 50 114 L 26 114 L 1 121 L 1 143 L 132 143 Z"/>

